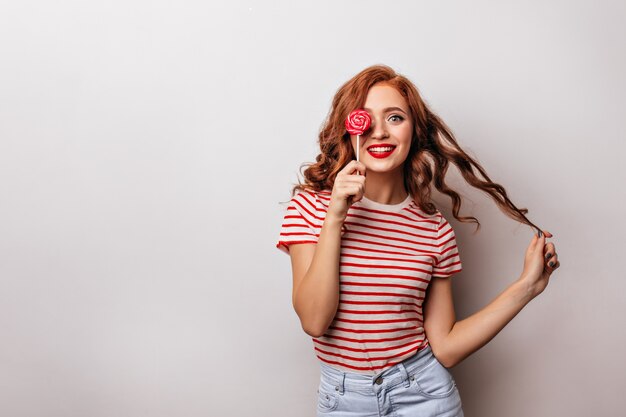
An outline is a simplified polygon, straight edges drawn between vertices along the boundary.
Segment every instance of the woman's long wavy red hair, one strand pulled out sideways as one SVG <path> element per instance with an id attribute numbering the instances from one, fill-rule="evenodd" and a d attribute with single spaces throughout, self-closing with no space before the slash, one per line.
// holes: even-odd
<path id="1" fill-rule="evenodd" d="M 380 82 L 396 88 L 409 105 L 413 137 L 403 168 L 404 186 L 422 211 L 432 215 L 437 210 L 431 200 L 431 184 L 434 184 L 437 190 L 452 199 L 452 214 L 457 220 L 476 223 L 476 231 L 480 229 L 476 217 L 459 215 L 461 197 L 446 184 L 445 175 L 449 164 L 453 163 L 465 181 L 487 193 L 506 215 L 541 230 L 525 216 L 528 209 L 517 208 L 504 187 L 493 182 L 480 164 L 461 149 L 451 129 L 424 103 L 415 85 L 386 65 L 365 68 L 337 90 L 319 133 L 321 152 L 315 163 L 300 166 L 300 171 L 307 167 L 303 173 L 305 182 L 298 180 L 291 191 L 292 197 L 297 190 L 332 190 L 337 173 L 356 159 L 344 121 L 352 110 L 364 106 L 369 89 Z"/>

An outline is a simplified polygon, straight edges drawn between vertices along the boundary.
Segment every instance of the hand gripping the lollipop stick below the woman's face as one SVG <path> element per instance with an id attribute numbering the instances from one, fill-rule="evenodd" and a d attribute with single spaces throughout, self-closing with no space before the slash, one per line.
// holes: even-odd
<path id="1" fill-rule="evenodd" d="M 357 175 L 357 171 L 361 175 Z M 365 165 L 353 159 L 337 173 L 327 215 L 344 221 L 348 217 L 350 206 L 360 201 L 363 194 L 365 194 Z"/>

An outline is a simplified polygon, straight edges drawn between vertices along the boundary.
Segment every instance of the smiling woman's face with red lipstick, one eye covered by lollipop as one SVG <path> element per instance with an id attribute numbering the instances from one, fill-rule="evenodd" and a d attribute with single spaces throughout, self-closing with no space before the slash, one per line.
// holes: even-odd
<path id="1" fill-rule="evenodd" d="M 356 149 L 356 135 L 350 136 L 355 153 L 360 152 L 359 161 L 368 171 L 401 170 L 413 136 L 406 100 L 394 87 L 378 83 L 367 93 L 363 109 L 371 116 L 372 124 L 360 137 L 360 149 Z"/>

